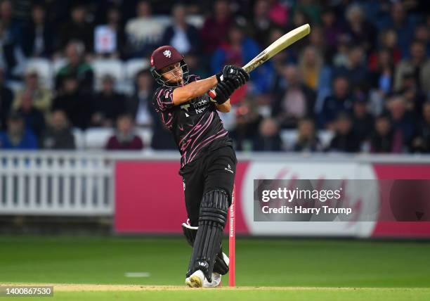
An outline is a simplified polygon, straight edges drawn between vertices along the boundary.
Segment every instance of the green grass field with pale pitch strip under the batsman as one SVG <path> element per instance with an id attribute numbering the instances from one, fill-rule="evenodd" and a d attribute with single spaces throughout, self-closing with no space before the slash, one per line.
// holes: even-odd
<path id="1" fill-rule="evenodd" d="M 0 285 L 82 283 L 54 285 L 54 300 L 79 301 L 430 300 L 428 242 L 239 238 L 237 288 L 210 290 L 184 288 L 190 250 L 183 238 L 0 236 Z"/>

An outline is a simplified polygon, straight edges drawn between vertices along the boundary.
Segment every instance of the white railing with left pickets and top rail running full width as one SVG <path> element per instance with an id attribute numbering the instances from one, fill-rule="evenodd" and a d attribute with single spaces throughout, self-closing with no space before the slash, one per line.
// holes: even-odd
<path id="1" fill-rule="evenodd" d="M 430 164 L 429 155 L 238 153 L 261 162 Z M 176 151 L 0 151 L 0 215 L 112 216 L 116 160 L 174 160 Z M 179 164 L 178 164 L 179 167 Z"/>

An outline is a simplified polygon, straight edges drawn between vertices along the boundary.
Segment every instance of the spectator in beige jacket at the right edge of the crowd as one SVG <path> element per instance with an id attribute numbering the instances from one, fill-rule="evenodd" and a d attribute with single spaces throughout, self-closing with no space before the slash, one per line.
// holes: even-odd
<path id="1" fill-rule="evenodd" d="M 426 49 L 420 41 L 410 45 L 410 58 L 400 61 L 396 68 L 394 89 L 398 91 L 403 86 L 403 77 L 412 74 L 417 82 L 417 88 L 424 94 L 430 93 L 430 58 L 426 57 Z"/>

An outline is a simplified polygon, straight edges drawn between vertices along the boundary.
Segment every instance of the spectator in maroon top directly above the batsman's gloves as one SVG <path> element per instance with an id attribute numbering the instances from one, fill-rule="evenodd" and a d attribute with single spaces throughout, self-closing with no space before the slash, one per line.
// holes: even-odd
<path id="1" fill-rule="evenodd" d="M 200 37 L 204 53 L 214 53 L 221 44 L 226 41 L 230 27 L 233 26 L 233 18 L 230 16 L 229 2 L 216 0 L 214 4 L 214 15 L 204 20 Z M 217 70 L 216 72 L 219 72 Z"/>

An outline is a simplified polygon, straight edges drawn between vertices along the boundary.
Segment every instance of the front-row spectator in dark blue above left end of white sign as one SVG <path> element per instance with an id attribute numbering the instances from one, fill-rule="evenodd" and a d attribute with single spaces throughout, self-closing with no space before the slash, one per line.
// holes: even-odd
<path id="1" fill-rule="evenodd" d="M 276 120 L 266 118 L 261 120 L 259 134 L 254 139 L 253 151 L 282 151 L 282 140 Z"/>

